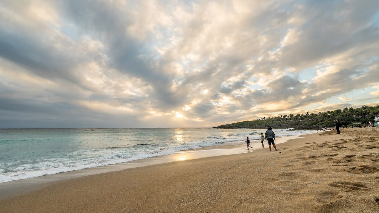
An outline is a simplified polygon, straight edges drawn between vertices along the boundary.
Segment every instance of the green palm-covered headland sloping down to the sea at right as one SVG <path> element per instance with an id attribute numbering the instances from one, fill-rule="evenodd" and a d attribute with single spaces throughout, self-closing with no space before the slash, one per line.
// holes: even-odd
<path id="1" fill-rule="evenodd" d="M 321 127 L 333 127 L 333 120 L 339 120 L 342 125 L 368 124 L 374 121 L 379 113 L 379 105 L 360 108 L 344 108 L 334 111 L 319 113 L 305 112 L 303 114 L 284 114 L 274 117 L 263 117 L 255 121 L 242 121 L 233 124 L 223 124 L 213 128 L 294 128 L 294 129 L 318 129 Z"/>

